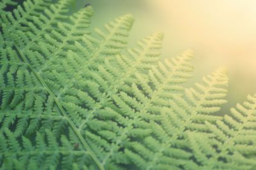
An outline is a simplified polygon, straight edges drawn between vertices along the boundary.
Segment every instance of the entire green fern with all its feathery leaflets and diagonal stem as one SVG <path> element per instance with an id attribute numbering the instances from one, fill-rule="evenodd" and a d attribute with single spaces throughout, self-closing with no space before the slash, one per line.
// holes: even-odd
<path id="1" fill-rule="evenodd" d="M 218 116 L 225 68 L 184 88 L 190 50 L 161 61 L 163 33 L 129 49 L 131 15 L 91 33 L 69 6 L 0 3 L 0 169 L 255 169 L 256 96 Z"/>

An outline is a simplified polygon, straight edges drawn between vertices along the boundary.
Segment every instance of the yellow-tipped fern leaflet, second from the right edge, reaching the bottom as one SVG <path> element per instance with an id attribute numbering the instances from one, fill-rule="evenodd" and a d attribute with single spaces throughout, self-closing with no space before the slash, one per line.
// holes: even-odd
<path id="1" fill-rule="evenodd" d="M 179 72 L 177 73 L 179 75 Z M 176 166 L 177 169 L 184 168 L 186 164 L 194 166 L 195 163 L 191 160 L 192 155 L 189 151 L 188 137 L 184 135 L 184 132 L 188 130 L 204 131 L 205 126 L 200 121 L 201 119 L 218 120 L 219 117 L 211 116 L 211 114 L 213 111 L 216 112 L 216 108 L 219 108 L 218 106 L 224 101 L 212 102 L 210 106 L 205 105 L 205 102 L 225 96 L 222 94 L 226 91 L 225 86 L 227 86 L 226 71 L 224 68 L 220 68 L 211 75 L 204 77 L 202 84 L 196 83 L 197 89 L 185 89 L 184 97 L 174 93 L 169 100 L 169 105 L 165 104 L 163 109 L 154 109 L 154 111 L 160 111 L 158 120 L 152 121 L 150 119 L 154 135 L 146 137 L 140 144 L 140 148 L 137 148 L 138 142 L 136 141 L 131 146 L 131 151 L 134 154 L 138 154 L 145 162 L 148 162 L 140 168 L 165 167 L 164 169 L 171 169 Z M 141 154 L 141 150 L 150 153 L 150 157 Z"/>

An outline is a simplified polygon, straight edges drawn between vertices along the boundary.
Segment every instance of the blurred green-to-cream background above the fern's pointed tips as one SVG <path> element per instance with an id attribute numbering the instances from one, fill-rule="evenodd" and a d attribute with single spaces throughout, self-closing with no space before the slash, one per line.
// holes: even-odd
<path id="1" fill-rule="evenodd" d="M 228 103 L 223 114 L 256 92 L 256 1 L 254 0 L 74 0 L 77 10 L 90 3 L 92 27 L 131 13 L 129 47 L 155 31 L 163 31 L 163 58 L 186 49 L 195 53 L 193 86 L 220 66 L 228 68 Z"/>

